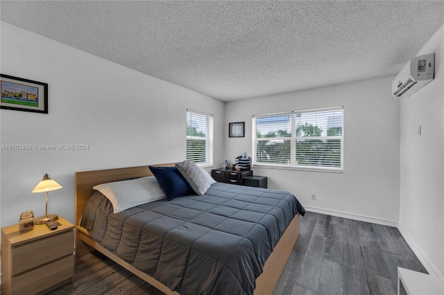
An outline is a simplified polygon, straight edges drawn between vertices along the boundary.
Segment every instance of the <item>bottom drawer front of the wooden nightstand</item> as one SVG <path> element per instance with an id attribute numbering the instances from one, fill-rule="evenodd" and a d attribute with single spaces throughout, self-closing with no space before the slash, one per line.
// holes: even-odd
<path id="1" fill-rule="evenodd" d="M 62 260 L 12 278 L 12 294 L 36 294 L 46 290 L 48 286 L 65 281 L 68 283 L 73 276 L 74 255 L 71 254 Z"/>

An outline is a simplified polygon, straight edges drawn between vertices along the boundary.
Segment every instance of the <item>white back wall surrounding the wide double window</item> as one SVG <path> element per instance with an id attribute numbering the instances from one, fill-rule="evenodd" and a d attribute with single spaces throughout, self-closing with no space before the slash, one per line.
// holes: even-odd
<path id="1" fill-rule="evenodd" d="M 310 211 L 396 226 L 399 217 L 399 100 L 393 77 L 226 103 L 225 158 L 251 155 L 253 114 L 344 106 L 343 174 L 253 168 L 268 188 L 289 190 Z M 245 138 L 228 123 L 245 121 Z M 316 201 L 311 195 L 316 194 Z"/>

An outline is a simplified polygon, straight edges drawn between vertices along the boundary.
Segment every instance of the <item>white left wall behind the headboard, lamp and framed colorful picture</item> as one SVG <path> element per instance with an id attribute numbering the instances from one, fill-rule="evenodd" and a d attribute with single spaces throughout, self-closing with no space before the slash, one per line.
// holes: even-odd
<path id="1" fill-rule="evenodd" d="M 25 210 L 74 222 L 74 172 L 185 159 L 186 109 L 214 114 L 214 156 L 223 161 L 224 104 L 1 22 L 1 73 L 49 84 L 49 114 L 1 109 L 1 145 L 87 144 L 89 150 L 1 150 L 1 226 Z"/>

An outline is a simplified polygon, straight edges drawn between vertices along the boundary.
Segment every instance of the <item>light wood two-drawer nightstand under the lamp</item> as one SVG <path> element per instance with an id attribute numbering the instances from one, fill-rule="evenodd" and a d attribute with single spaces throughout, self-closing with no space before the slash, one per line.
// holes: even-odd
<path id="1" fill-rule="evenodd" d="M 9 294 L 46 293 L 74 277 L 74 224 L 51 231 L 46 224 L 20 232 L 19 225 L 1 229 L 1 290 Z"/>

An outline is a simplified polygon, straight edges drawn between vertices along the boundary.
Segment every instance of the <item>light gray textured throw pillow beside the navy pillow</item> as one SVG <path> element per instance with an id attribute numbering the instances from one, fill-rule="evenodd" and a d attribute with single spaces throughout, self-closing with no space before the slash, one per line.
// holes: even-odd
<path id="1" fill-rule="evenodd" d="M 203 174 L 204 171 L 200 169 L 195 163 L 185 160 L 180 163 L 176 163 L 180 174 L 188 181 L 191 188 L 198 195 L 203 195 L 210 188 L 211 184 L 208 177 Z"/>

